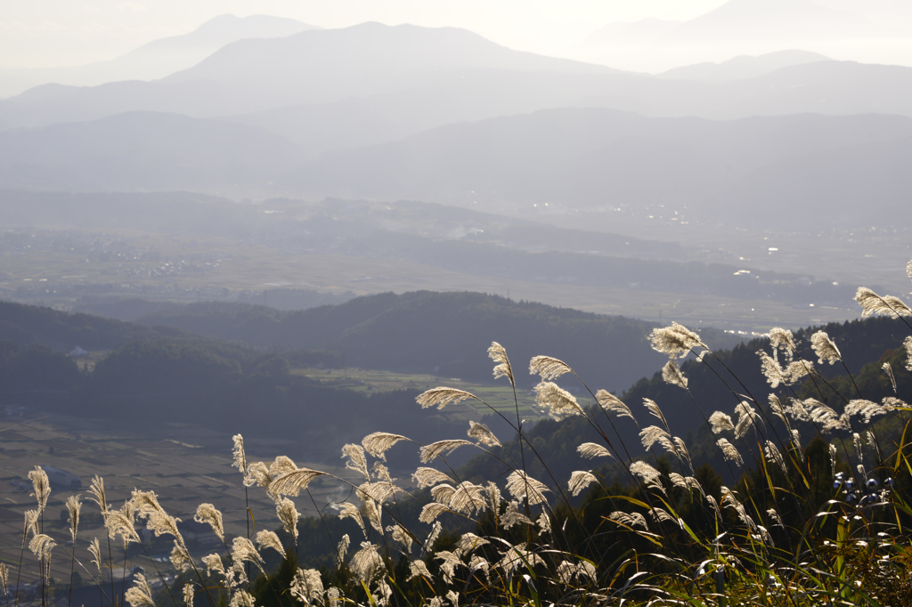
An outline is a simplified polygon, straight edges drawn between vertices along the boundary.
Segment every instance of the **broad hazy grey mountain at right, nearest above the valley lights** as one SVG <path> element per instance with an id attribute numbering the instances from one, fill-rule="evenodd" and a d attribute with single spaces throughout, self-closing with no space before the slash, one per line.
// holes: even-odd
<path id="1" fill-rule="evenodd" d="M 888 194 L 883 203 L 896 204 L 896 196 L 907 184 L 899 164 L 912 159 L 912 149 L 901 142 L 905 137 L 912 137 L 912 120 L 890 116 L 802 115 L 712 122 L 644 118 L 602 109 L 556 109 L 443 127 L 339 153 L 295 170 L 282 182 L 290 190 L 313 195 L 456 204 L 472 192 L 472 200 L 479 204 L 507 204 L 514 209 L 533 203 L 572 210 L 673 201 L 673 210 L 683 216 L 705 218 L 708 214 L 700 206 L 707 197 L 728 191 L 754 173 L 756 177 L 750 179 L 765 180 L 763 190 L 785 190 L 800 182 L 803 198 L 798 202 L 813 208 L 824 200 L 822 193 L 814 194 L 814 188 L 829 189 L 824 180 L 832 171 L 822 169 L 827 163 L 824 157 L 843 171 L 840 183 L 853 184 L 846 192 L 877 182 L 883 184 L 879 190 Z M 884 154 L 889 162 L 863 161 L 887 141 L 896 141 Z M 789 169 L 790 159 L 820 166 L 802 175 Z M 845 170 L 853 163 L 854 170 Z M 750 193 L 749 186 L 738 192 L 729 192 L 727 200 L 741 201 L 741 194 Z M 744 204 L 750 200 L 756 205 L 752 209 L 762 209 L 761 198 L 751 195 Z M 790 204 L 796 198 L 790 196 Z M 853 210 L 845 196 L 837 200 L 839 210 L 848 211 L 846 221 L 855 221 L 863 212 Z M 729 218 L 738 220 L 734 211 L 741 205 L 730 206 Z M 710 215 L 716 211 L 713 207 Z M 753 219 L 755 214 L 748 211 L 744 217 Z M 827 222 L 833 219 L 828 217 Z"/>

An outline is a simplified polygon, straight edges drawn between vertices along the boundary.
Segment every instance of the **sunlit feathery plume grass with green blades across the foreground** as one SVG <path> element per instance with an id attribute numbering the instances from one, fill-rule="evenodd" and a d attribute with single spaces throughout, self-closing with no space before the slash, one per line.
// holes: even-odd
<path id="1" fill-rule="evenodd" d="M 912 278 L 912 262 L 908 273 Z M 869 289 L 859 289 L 856 300 L 864 315 L 889 314 L 906 323 L 912 316 L 898 298 Z M 912 325 L 907 327 L 906 369 L 912 371 Z M 669 356 L 662 371 L 665 381 L 688 393 L 688 378 L 676 359 L 712 359 L 727 371 L 700 335 L 680 324 L 656 329 L 649 338 L 658 352 Z M 842 363 L 838 346 L 827 334 L 814 334 L 811 343 L 817 365 Z M 251 537 L 248 501 L 246 537 L 229 542 L 221 512 L 212 504 L 201 504 L 194 520 L 212 527 L 223 542 L 225 557 L 191 555 L 178 520 L 161 508 L 152 492 L 134 490 L 115 509 L 98 477 L 89 493 L 107 530 L 107 558 L 98 538 L 86 545 L 77 542 L 82 506 L 78 497 L 67 500 L 72 550 L 57 546 L 43 533 L 50 489 L 47 475 L 36 468 L 29 477 L 37 509 L 26 512 L 22 550 L 27 547 L 39 561 L 43 605 L 48 602 L 49 563 L 55 550 L 69 551 L 71 570 L 78 564 L 96 581 L 100 607 L 112 605 L 113 575 L 104 572 L 116 567 L 111 541 L 119 538 L 124 549 L 138 543 L 145 550 L 137 531 L 143 524 L 155 536 L 173 540 L 171 566 L 179 584 L 164 583 L 163 572 L 150 562 L 171 602 L 187 607 L 253 607 L 257 592 L 272 592 L 274 604 L 326 607 L 909 604 L 912 438 L 907 412 L 912 409 L 898 394 L 874 402 L 865 400 L 859 390 L 851 399 L 840 396 L 843 402 L 828 400 L 824 390 L 832 386 L 815 371 L 813 361 L 796 357 L 790 331 L 773 329 L 770 348 L 758 355 L 772 393 L 752 394 L 737 376 L 710 367 L 731 392 L 731 405 L 706 415 L 708 408 L 692 398 L 695 411 L 718 436 L 728 477 L 736 479 L 731 488 L 721 485 L 712 470 L 695 468 L 686 442 L 673 435 L 658 403 L 645 399 L 645 417 L 637 416 L 617 396 L 590 388 L 570 365 L 550 356 L 535 356 L 529 366 L 530 373 L 541 378 L 535 387 L 538 405 L 555 419 L 584 417 L 600 442 L 583 443 L 578 453 L 612 462 L 611 469 L 625 482 L 609 482 L 600 473 L 605 467 L 554 478 L 544 461 L 541 469 L 547 478 L 533 478 L 527 463 L 541 458 L 523 432 L 513 365 L 503 346 L 493 343 L 488 351 L 493 375 L 513 386 L 515 417 L 490 408 L 512 427 L 518 457 L 503 448 L 488 427 L 471 422 L 466 438 L 416 443 L 422 466 L 411 483 L 397 483 L 384 463 L 386 453 L 401 442 L 414 441 L 375 432 L 360 445 L 343 448 L 346 467 L 358 478 L 352 481 L 298 467 L 284 456 L 271 463 L 248 462 L 244 439 L 238 435 L 233 466 L 245 489 L 262 489 L 274 501 L 284 536 L 261 530 Z M 852 378 L 847 366 L 845 372 Z M 886 364 L 884 373 L 896 391 L 894 369 Z M 591 405 L 580 404 L 554 383 L 564 376 L 579 382 Z M 814 386 L 819 398 L 800 397 L 800 385 Z M 831 389 L 827 394 L 839 392 Z M 424 392 L 418 404 L 443 408 L 466 399 L 487 405 L 478 396 L 445 386 Z M 901 431 L 879 436 L 877 419 L 882 417 Z M 638 441 L 629 440 L 618 427 L 621 418 L 636 423 Z M 641 425 L 647 420 L 649 425 Z M 803 442 L 803 437 L 811 439 Z M 461 478 L 446 459 L 461 448 L 495 458 L 503 477 L 477 484 Z M 320 477 L 335 478 L 351 488 L 352 498 L 340 504 L 338 516 L 357 523 L 363 537 L 332 537 L 325 526 L 337 549 L 332 565 L 318 571 L 296 564 L 300 554 L 295 499 L 306 494 L 313 501 L 308 486 Z M 420 522 L 430 531 L 409 529 L 400 506 L 428 489 L 430 501 L 421 508 Z M 580 504 L 573 498 L 584 491 Z M 446 521 L 446 530 L 441 521 Z M 91 555 L 91 561 L 78 556 L 82 551 Z M 274 552 L 288 571 L 283 587 L 253 583 L 256 575 L 266 573 L 267 552 Z M 95 571 L 90 571 L 93 565 Z M 21 566 L 20 562 L 17 578 Z M 126 573 L 126 561 L 123 568 Z M 5 590 L 11 574 L 5 563 L 0 564 Z M 104 582 L 106 577 L 110 585 Z M 16 583 L 12 602 L 7 593 L 8 604 L 18 603 L 18 589 Z M 124 596 L 132 607 L 155 604 L 149 582 L 141 575 Z"/>

